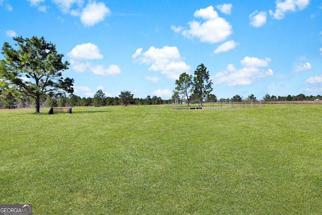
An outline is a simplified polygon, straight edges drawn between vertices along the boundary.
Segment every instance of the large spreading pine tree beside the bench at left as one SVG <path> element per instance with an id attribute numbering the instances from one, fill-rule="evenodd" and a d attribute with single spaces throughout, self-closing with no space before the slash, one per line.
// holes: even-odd
<path id="1" fill-rule="evenodd" d="M 0 61 L 0 82 L 9 84 L 12 91 L 35 99 L 36 113 L 40 112 L 40 99 L 53 95 L 73 93 L 73 79 L 62 78 L 61 71 L 68 69 L 62 62 L 56 46 L 44 37 L 14 37 L 17 49 L 5 42 Z"/>

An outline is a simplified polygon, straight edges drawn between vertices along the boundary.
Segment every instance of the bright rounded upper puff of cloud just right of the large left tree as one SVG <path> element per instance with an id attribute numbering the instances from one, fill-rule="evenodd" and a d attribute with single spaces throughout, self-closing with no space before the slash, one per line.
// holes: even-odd
<path id="1" fill-rule="evenodd" d="M 76 45 L 67 55 L 74 60 L 102 59 L 100 49 L 93 43 Z"/>

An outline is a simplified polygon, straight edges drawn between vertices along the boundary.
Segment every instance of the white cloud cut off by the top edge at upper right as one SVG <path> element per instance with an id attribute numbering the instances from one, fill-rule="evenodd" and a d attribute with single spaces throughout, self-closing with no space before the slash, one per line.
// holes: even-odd
<path id="1" fill-rule="evenodd" d="M 304 10 L 310 3 L 310 0 L 285 0 L 284 2 L 282 2 L 281 0 L 277 0 L 275 3 L 275 12 L 270 10 L 269 13 L 274 19 L 281 20 L 284 19 L 285 14 L 288 12 Z"/>

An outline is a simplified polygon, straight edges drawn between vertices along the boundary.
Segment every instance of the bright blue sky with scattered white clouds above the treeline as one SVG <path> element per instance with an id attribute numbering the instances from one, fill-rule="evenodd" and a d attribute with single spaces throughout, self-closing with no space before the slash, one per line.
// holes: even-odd
<path id="1" fill-rule="evenodd" d="M 0 0 L 0 17 L 1 46 L 56 44 L 81 97 L 169 99 L 200 63 L 218 98 L 322 95 L 321 0 Z"/>

